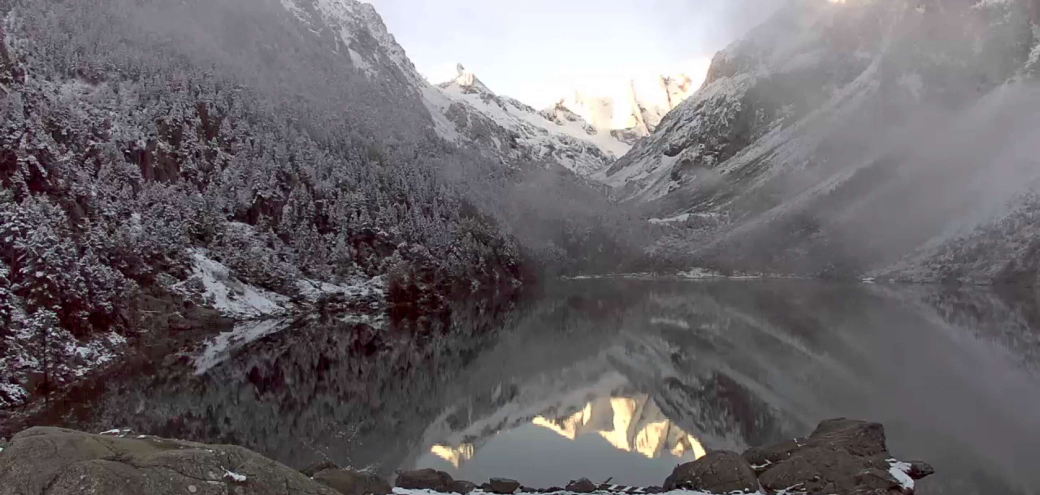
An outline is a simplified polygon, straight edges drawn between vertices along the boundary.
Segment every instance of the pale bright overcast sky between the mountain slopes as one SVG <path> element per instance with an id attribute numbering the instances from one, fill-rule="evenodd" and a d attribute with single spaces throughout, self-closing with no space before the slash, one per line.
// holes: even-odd
<path id="1" fill-rule="evenodd" d="M 783 0 L 368 0 L 432 82 L 456 62 L 542 108 L 632 77 L 702 77 L 711 55 Z"/>

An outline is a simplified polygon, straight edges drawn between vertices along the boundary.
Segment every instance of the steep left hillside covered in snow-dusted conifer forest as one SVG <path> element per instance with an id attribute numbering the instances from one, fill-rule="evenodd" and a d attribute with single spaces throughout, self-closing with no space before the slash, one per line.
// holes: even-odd
<path id="1" fill-rule="evenodd" d="M 379 16 L 338 5 L 349 40 L 275 0 L 0 1 L 0 406 L 213 310 L 436 307 L 579 265 L 602 212 L 443 140 Z"/>

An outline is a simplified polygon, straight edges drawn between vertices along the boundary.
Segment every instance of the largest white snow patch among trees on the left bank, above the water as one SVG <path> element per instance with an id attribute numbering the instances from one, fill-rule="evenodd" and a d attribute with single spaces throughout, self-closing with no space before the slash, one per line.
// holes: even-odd
<path id="1" fill-rule="evenodd" d="M 191 277 L 175 285 L 175 290 L 190 295 L 192 285 L 201 283 L 203 299 L 232 318 L 259 318 L 287 311 L 288 297 L 238 280 L 227 266 L 209 258 L 205 250 L 193 250 L 191 259 L 194 261 Z"/>

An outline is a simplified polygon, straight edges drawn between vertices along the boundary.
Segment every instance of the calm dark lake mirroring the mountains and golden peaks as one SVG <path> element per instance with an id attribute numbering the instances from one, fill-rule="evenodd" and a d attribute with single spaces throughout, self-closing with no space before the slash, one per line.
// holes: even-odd
<path id="1" fill-rule="evenodd" d="M 706 449 L 847 416 L 935 466 L 918 493 L 1040 493 L 1033 292 L 589 280 L 444 321 L 241 328 L 36 421 L 549 487 L 660 485 Z"/>

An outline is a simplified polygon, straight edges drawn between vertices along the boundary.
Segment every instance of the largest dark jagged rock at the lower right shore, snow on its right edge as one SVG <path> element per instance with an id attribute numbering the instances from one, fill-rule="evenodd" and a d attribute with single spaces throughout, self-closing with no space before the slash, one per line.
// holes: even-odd
<path id="1" fill-rule="evenodd" d="M 799 486 L 810 495 L 910 493 L 889 472 L 891 455 L 885 446 L 885 429 L 879 423 L 830 419 L 822 421 L 807 438 L 753 447 L 744 457 L 766 490 Z M 925 463 L 912 464 L 911 471 L 919 477 L 934 472 Z"/>

